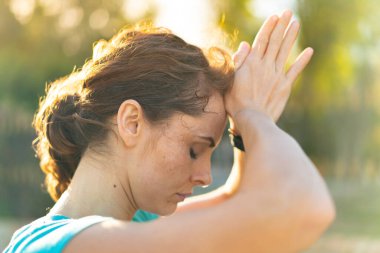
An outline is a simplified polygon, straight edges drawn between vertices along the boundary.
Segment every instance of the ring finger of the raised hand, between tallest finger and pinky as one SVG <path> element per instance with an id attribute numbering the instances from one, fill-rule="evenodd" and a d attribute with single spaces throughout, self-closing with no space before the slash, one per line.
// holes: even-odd
<path id="1" fill-rule="evenodd" d="M 281 45 L 280 51 L 276 59 L 276 69 L 283 70 L 286 60 L 289 57 L 290 51 L 296 41 L 300 25 L 297 21 L 292 22 L 288 31 L 286 32 L 284 41 Z"/>

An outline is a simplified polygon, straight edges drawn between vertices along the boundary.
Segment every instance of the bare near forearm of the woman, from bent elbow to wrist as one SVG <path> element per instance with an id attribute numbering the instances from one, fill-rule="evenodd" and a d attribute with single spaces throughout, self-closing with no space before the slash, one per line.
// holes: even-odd
<path id="1" fill-rule="evenodd" d="M 241 206 L 235 214 L 245 217 L 247 225 L 267 224 L 263 233 L 293 243 L 293 249 L 310 245 L 334 217 L 334 206 L 315 166 L 269 117 L 247 111 L 235 123 L 244 140 L 246 159 L 231 209 Z"/>

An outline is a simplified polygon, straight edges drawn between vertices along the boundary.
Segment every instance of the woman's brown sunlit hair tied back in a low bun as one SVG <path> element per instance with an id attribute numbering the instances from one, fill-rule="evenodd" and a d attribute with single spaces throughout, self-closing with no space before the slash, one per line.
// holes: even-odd
<path id="1" fill-rule="evenodd" d="M 134 27 L 99 41 L 80 70 L 47 85 L 34 117 L 33 145 L 50 196 L 57 200 L 67 189 L 84 151 L 104 139 L 123 101 L 139 102 L 151 123 L 175 112 L 195 116 L 211 92 L 225 93 L 233 75 L 224 50 L 202 51 L 168 29 Z"/>

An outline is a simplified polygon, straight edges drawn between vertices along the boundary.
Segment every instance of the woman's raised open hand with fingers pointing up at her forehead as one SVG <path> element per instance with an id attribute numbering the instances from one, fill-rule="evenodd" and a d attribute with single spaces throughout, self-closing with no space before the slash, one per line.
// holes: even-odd
<path id="1" fill-rule="evenodd" d="M 313 49 L 305 49 L 285 71 L 285 64 L 299 31 L 292 13 L 269 17 L 260 28 L 252 48 L 242 42 L 234 54 L 235 80 L 224 100 L 232 120 L 243 110 L 256 110 L 277 121 L 288 101 L 292 84 L 306 67 Z M 288 29 L 287 29 L 288 28 Z M 286 31 L 286 32 L 285 32 Z"/>

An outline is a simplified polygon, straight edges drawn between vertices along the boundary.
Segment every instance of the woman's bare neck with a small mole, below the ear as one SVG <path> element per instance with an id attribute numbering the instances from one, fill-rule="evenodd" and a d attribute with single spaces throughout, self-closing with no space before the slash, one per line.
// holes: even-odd
<path id="1" fill-rule="evenodd" d="M 69 188 L 51 209 L 50 214 L 71 218 L 101 215 L 131 220 L 137 210 L 127 178 L 117 175 L 120 163 L 101 162 L 85 154 Z"/>

